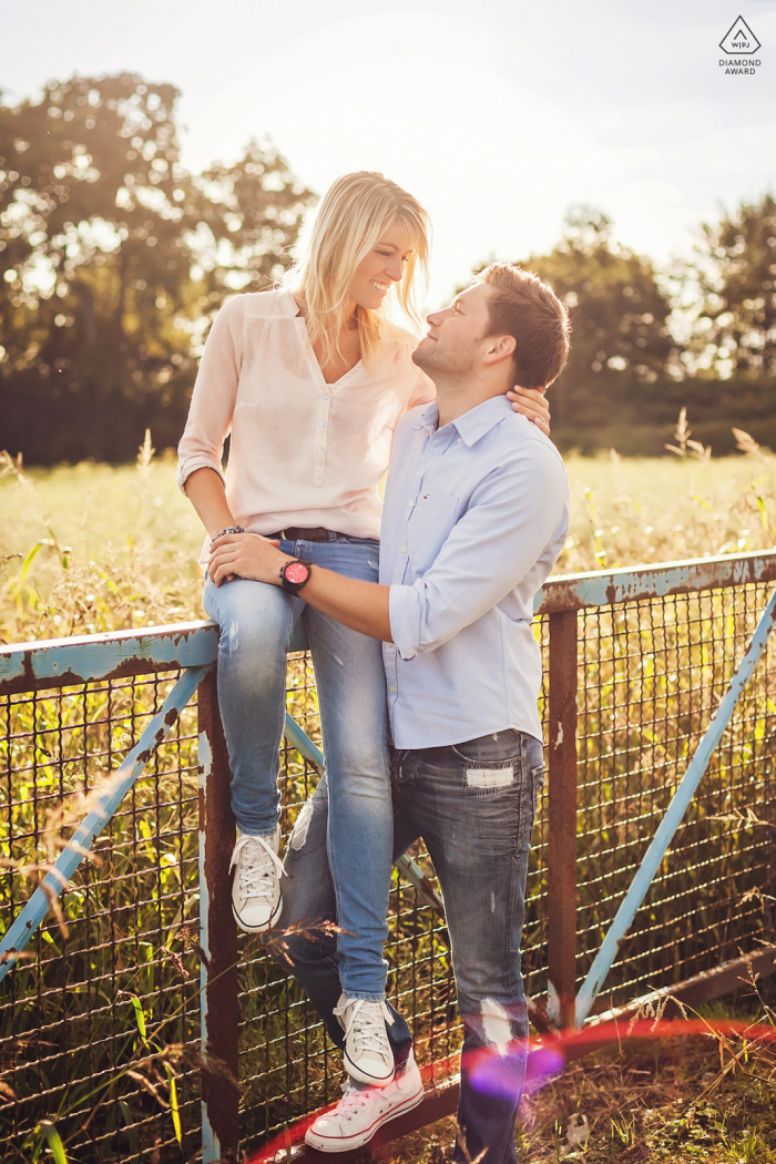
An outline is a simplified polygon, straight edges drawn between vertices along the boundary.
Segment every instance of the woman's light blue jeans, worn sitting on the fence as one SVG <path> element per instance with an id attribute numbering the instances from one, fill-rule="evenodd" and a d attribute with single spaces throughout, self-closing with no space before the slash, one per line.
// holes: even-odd
<path id="1" fill-rule="evenodd" d="M 282 541 L 286 554 L 347 577 L 377 582 L 377 541 L 330 534 Z M 383 945 L 391 880 L 392 810 L 382 647 L 264 582 L 205 581 L 202 604 L 219 624 L 219 708 L 241 832 L 266 836 L 279 816 L 286 654 L 306 624 L 315 668 L 332 811 L 327 847 L 336 894 L 340 979 L 348 998 L 385 994 Z M 282 918 L 283 921 L 283 918 Z"/>

